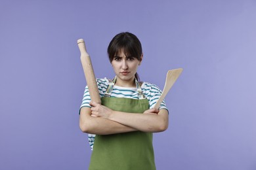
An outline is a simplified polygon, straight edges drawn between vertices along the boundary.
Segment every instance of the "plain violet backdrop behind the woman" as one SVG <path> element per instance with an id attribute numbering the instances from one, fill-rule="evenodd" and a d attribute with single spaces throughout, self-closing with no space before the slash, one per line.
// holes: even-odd
<path id="1" fill-rule="evenodd" d="M 163 89 L 169 129 L 158 169 L 256 169 L 256 1 L 7 1 L 0 5 L 0 169 L 87 169 L 79 129 L 85 88 L 77 39 L 95 75 L 112 78 L 108 43 L 139 37 L 140 78 Z"/>

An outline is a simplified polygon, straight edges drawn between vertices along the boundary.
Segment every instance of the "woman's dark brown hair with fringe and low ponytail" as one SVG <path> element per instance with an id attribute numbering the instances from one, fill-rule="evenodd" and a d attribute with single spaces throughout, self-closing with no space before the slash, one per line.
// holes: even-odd
<path id="1" fill-rule="evenodd" d="M 140 41 L 132 33 L 119 33 L 112 39 L 112 41 L 110 41 L 110 44 L 108 45 L 108 58 L 110 59 L 110 63 L 121 50 L 123 50 L 125 56 L 132 56 L 139 61 L 142 59 L 142 47 Z M 138 73 L 135 74 L 135 78 L 139 81 Z"/>

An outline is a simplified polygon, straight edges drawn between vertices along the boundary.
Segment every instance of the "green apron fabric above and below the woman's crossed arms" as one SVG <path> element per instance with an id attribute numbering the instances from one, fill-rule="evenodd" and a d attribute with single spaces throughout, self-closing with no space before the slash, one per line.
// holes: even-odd
<path id="1" fill-rule="evenodd" d="M 142 113 L 148 99 L 102 97 L 102 105 L 112 110 Z M 89 170 L 154 170 L 152 133 L 133 131 L 96 135 Z"/>

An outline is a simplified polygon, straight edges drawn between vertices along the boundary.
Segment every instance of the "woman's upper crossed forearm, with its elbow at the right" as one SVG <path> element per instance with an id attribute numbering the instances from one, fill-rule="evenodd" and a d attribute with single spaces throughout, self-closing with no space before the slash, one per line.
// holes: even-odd
<path id="1" fill-rule="evenodd" d="M 136 114 L 113 111 L 108 119 L 146 132 L 165 131 L 168 127 L 168 113 L 165 109 L 161 109 L 158 114 Z"/>

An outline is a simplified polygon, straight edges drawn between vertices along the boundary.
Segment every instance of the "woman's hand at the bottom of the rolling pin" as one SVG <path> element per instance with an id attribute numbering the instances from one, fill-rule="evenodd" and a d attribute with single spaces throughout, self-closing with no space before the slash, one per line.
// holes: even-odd
<path id="1" fill-rule="evenodd" d="M 113 110 L 96 103 L 95 101 L 90 102 L 91 105 L 91 116 L 94 117 L 102 117 L 109 118 L 110 114 L 112 114 Z"/>

